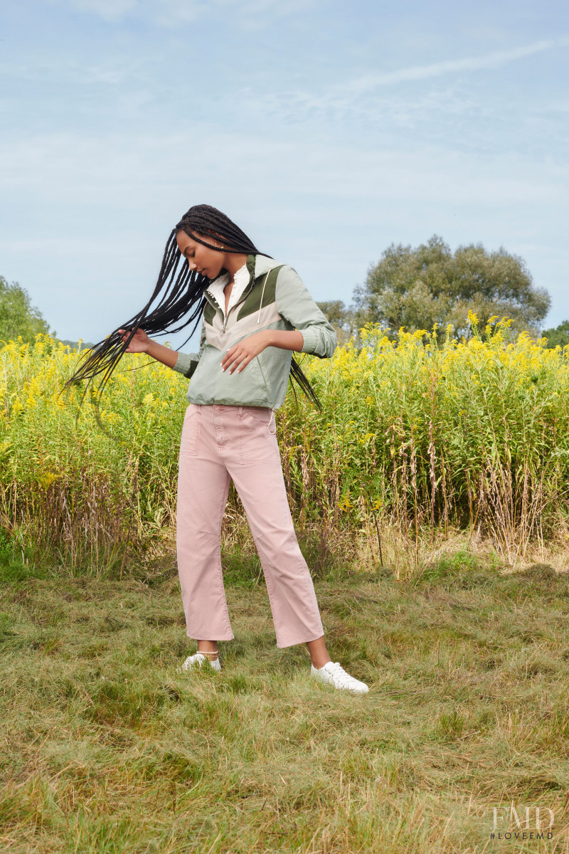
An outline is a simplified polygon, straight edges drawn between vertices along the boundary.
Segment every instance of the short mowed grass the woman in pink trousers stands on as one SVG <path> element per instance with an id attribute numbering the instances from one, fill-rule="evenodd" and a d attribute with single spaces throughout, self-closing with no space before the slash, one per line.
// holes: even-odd
<path id="1" fill-rule="evenodd" d="M 334 661 L 371 687 L 352 696 L 276 649 L 257 566 L 226 563 L 220 674 L 177 671 L 173 569 L 4 570 L 1 851 L 569 850 L 569 576 L 459 553 L 316 580 Z M 553 839 L 491 839 L 495 807 L 521 836 L 510 804 L 534 834 L 553 810 Z"/>

